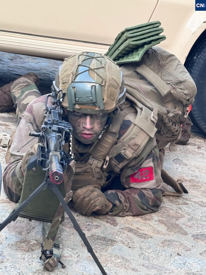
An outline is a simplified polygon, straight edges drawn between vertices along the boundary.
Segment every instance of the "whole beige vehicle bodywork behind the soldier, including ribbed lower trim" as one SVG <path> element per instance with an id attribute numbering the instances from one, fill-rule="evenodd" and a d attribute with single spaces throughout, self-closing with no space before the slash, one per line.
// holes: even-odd
<path id="1" fill-rule="evenodd" d="M 58 5 L 57 5 L 58 4 Z M 81 51 L 106 53 L 125 27 L 159 20 L 166 40 L 159 46 L 184 63 L 206 28 L 206 12 L 193 0 L 26 0 L 4 3 L 0 50 L 63 59 Z M 9 13 L 8 13 L 9 10 Z"/>

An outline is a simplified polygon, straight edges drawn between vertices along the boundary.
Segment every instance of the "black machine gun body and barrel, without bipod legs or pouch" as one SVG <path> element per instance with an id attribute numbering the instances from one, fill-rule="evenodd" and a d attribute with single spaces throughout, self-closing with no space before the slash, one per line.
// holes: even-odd
<path id="1" fill-rule="evenodd" d="M 48 97 L 52 95 L 55 100 L 55 107 L 48 107 Z M 55 94 L 56 95 L 56 94 Z M 72 127 L 71 124 L 63 120 L 60 116 L 62 109 L 54 94 L 46 97 L 46 114 L 42 125 L 41 133 L 29 132 L 30 136 L 38 137 L 43 146 L 38 145 L 37 155 L 31 156 L 27 169 L 34 166 L 42 166 L 44 171 L 48 171 L 49 179 L 52 183 L 63 182 L 63 171 L 74 158 L 72 152 Z M 69 154 L 63 150 L 62 145 L 69 143 Z"/>

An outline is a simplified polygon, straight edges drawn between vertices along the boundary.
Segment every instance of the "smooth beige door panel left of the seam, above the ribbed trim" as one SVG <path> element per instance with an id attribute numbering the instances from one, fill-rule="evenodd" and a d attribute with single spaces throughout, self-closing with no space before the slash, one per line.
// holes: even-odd
<path id="1" fill-rule="evenodd" d="M 157 0 L 27 0 L 1 7 L 1 30 L 92 43 L 112 44 L 127 26 L 145 23 Z M 9 7 L 9 13 L 8 13 Z"/>

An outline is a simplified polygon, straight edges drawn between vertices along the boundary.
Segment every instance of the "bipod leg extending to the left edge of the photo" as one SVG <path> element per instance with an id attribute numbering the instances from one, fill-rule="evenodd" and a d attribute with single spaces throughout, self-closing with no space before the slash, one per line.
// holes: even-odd
<path id="1" fill-rule="evenodd" d="M 18 217 L 18 214 L 41 192 L 46 188 L 47 185 L 47 179 L 48 179 L 48 175 L 46 175 L 44 182 L 42 182 L 41 185 L 39 185 L 39 187 L 34 190 L 33 193 L 31 193 L 30 196 L 28 196 L 28 198 L 26 200 L 23 201 L 22 204 L 20 204 L 20 206 L 18 208 L 16 208 L 15 211 L 13 211 L 8 218 L 6 218 L 1 224 L 0 224 L 0 231 L 2 231 L 2 229 L 4 229 L 5 226 L 7 226 L 7 224 L 9 224 L 13 219 L 15 219 L 16 217 Z"/>

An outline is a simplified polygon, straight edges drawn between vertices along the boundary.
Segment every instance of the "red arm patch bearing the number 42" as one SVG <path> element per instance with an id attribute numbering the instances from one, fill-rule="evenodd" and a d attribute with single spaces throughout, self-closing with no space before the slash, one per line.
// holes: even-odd
<path id="1" fill-rule="evenodd" d="M 149 182 L 154 179 L 153 167 L 139 168 L 130 176 L 131 182 Z"/>

